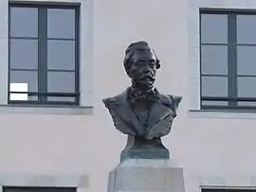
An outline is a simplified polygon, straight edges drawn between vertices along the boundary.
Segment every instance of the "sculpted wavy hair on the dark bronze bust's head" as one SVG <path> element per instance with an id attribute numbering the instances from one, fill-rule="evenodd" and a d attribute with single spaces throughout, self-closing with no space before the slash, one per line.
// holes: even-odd
<path id="1" fill-rule="evenodd" d="M 129 71 L 129 69 L 131 68 L 131 65 L 133 63 L 132 58 L 136 51 L 153 51 L 155 55 L 155 51 L 152 48 L 150 48 L 149 44 L 146 42 L 140 41 L 137 43 L 130 44 L 125 50 L 125 57 L 123 61 L 123 65 L 126 72 Z M 156 69 L 159 69 L 160 61 L 157 59 L 156 55 L 155 55 L 155 59 L 156 59 Z"/>

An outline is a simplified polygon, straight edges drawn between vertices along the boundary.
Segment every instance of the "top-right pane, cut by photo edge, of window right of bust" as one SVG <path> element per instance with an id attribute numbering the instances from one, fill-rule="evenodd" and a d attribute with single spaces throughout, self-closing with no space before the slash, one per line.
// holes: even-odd
<path id="1" fill-rule="evenodd" d="M 256 44 L 256 15 L 237 15 L 237 43 Z"/>

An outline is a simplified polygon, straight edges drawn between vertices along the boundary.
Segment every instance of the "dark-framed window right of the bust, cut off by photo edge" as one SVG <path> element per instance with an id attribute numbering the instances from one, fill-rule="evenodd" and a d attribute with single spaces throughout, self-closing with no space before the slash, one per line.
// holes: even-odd
<path id="1" fill-rule="evenodd" d="M 256 12 L 201 10 L 201 108 L 256 109 Z"/>

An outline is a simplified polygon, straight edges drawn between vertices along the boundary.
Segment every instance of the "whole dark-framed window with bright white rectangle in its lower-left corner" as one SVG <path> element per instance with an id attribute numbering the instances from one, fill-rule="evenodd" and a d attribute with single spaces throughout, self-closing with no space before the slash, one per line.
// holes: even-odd
<path id="1" fill-rule="evenodd" d="M 9 5 L 9 103 L 78 105 L 79 7 Z"/>

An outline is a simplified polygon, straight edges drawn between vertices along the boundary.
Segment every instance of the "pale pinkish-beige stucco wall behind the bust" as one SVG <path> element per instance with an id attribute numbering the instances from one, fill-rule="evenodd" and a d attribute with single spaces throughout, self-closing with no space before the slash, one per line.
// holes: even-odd
<path id="1" fill-rule="evenodd" d="M 83 6 L 89 0 L 82 1 Z M 191 11 L 196 12 L 200 4 L 192 7 L 186 0 L 94 0 L 92 3 L 90 8 L 83 7 L 92 10 L 91 18 L 83 17 L 82 24 L 91 19 L 93 36 L 91 46 L 82 46 L 86 47 L 82 49 L 82 64 L 86 61 L 84 51 L 92 50 L 89 61 L 92 76 L 83 85 L 85 88 L 86 83 L 91 85 L 88 92 L 92 93 L 93 114 L 0 110 L 0 173 L 87 175 L 86 191 L 106 191 L 107 174 L 119 163 L 126 137 L 114 129 L 101 99 L 129 85 L 122 68 L 123 51 L 131 42 L 145 40 L 155 48 L 162 64 L 157 88 L 166 94 L 184 96 L 173 131 L 163 140 L 171 149 L 172 160 L 185 168 L 186 190 L 199 192 L 199 185 L 255 185 L 255 115 L 190 112 L 192 103 L 197 102 L 198 90 L 194 83 L 197 79 L 191 78 L 195 65 L 192 67 L 189 58 L 192 36 L 188 28 L 192 24 L 190 18 L 194 17 L 193 21 L 197 18 Z M 7 1 L 1 0 L 0 5 L 7 8 Z M 3 25 L 6 21 L 0 22 Z M 87 30 L 82 29 L 82 35 Z M 1 36 L 0 52 L 5 58 L 4 36 L 5 33 Z M 0 85 L 3 90 L 5 86 L 5 83 Z M 1 96 L 0 100 L 4 100 Z"/>

